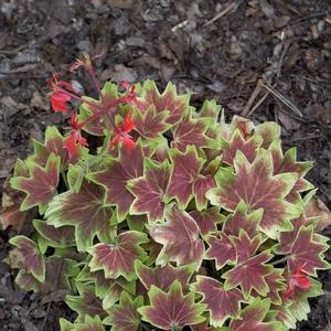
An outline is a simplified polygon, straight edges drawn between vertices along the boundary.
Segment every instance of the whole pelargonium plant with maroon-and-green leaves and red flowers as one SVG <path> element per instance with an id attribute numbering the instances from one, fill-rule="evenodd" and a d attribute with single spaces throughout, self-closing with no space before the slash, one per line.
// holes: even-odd
<path id="1" fill-rule="evenodd" d="M 330 267 L 312 162 L 282 152 L 275 122 L 226 124 L 171 83 L 100 87 L 79 67 L 97 97 L 54 75 L 71 129 L 49 127 L 4 192 L 3 227 L 33 225 L 10 239 L 17 284 L 65 300 L 63 331 L 296 328 Z"/>

